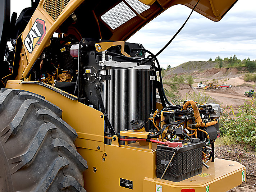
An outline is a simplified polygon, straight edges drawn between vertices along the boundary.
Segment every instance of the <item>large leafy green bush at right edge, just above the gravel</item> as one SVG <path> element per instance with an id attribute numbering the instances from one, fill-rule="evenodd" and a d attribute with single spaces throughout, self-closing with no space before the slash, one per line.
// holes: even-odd
<path id="1" fill-rule="evenodd" d="M 254 103 L 253 103 L 254 102 Z M 256 151 L 256 101 L 244 105 L 237 115 L 224 113 L 220 118 L 220 131 L 233 137 L 238 143 L 253 146 Z"/>

